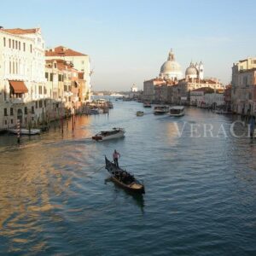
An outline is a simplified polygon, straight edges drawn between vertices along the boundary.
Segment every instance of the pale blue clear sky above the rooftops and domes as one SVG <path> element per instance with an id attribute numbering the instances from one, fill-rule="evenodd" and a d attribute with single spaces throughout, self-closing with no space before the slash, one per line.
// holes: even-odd
<path id="1" fill-rule="evenodd" d="M 143 89 L 172 48 L 183 74 L 202 61 L 205 77 L 230 83 L 234 62 L 256 56 L 254 0 L 3 1 L 4 28 L 40 26 L 46 46 L 90 55 L 92 90 Z"/>

